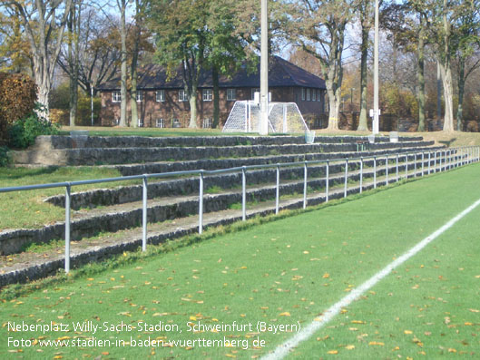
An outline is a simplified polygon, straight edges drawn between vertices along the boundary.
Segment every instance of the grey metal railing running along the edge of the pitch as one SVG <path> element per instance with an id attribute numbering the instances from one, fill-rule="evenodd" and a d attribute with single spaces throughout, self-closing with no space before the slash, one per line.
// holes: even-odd
<path id="1" fill-rule="evenodd" d="M 428 154 L 428 169 L 425 171 L 425 157 L 426 153 Z M 451 170 L 459 166 L 464 166 L 466 164 L 480 161 L 480 147 L 463 147 L 455 149 L 445 149 L 445 150 L 435 150 L 435 151 L 415 151 L 415 152 L 406 152 L 406 153 L 397 153 L 394 156 L 396 160 L 396 174 L 397 181 L 399 180 L 399 170 L 401 167 L 400 158 L 404 157 L 405 162 L 405 178 L 408 178 L 408 158 L 414 157 L 414 174 L 416 177 L 416 165 L 417 165 L 417 155 L 421 154 L 422 167 L 421 167 L 421 176 L 425 175 L 425 172 L 429 175 L 432 171 Z M 433 162 L 432 166 L 432 154 Z M 438 159 L 437 159 L 438 155 Z M 315 164 L 324 164 L 325 165 L 325 201 L 328 202 L 329 195 L 329 182 L 330 182 L 330 166 L 331 162 L 341 163 L 345 161 L 344 169 L 344 197 L 348 196 L 348 163 L 353 161 L 359 161 L 360 168 L 358 171 L 359 176 L 359 192 L 361 193 L 364 189 L 364 174 L 365 174 L 365 161 L 368 159 L 373 160 L 373 188 L 377 188 L 377 155 L 371 155 L 367 157 L 359 158 L 345 158 L 338 160 L 320 160 L 320 161 L 296 161 L 296 162 L 283 162 L 277 164 L 265 164 L 265 165 L 249 165 L 241 166 L 236 168 L 229 169 L 220 169 L 220 170 L 185 170 L 185 171 L 171 171 L 171 172 L 161 172 L 154 174 L 142 174 L 142 175 L 131 175 L 131 176 L 122 176 L 118 178 L 108 178 L 108 179 L 98 179 L 98 180 L 79 180 L 79 181 L 66 181 L 66 182 L 57 182 L 50 184 L 38 184 L 38 185 L 27 185 L 20 187 L 9 187 L 9 188 L 0 188 L 0 193 L 3 192 L 12 192 L 12 191 L 24 191 L 24 190 L 40 190 L 40 189 L 51 189 L 51 188 L 65 188 L 65 262 L 64 269 L 65 272 L 70 271 L 70 236 L 71 236 L 71 201 L 72 201 L 72 188 L 74 186 L 80 185 L 89 185 L 89 184 L 98 184 L 103 182 L 114 182 L 114 181 L 125 181 L 125 180 L 142 180 L 142 251 L 146 251 L 147 248 L 147 197 L 148 197 L 148 180 L 149 179 L 159 179 L 159 178 L 171 178 L 178 176 L 188 176 L 195 175 L 199 176 L 199 234 L 203 231 L 203 179 L 205 175 L 218 175 L 224 173 L 234 173 L 241 172 L 241 212 L 242 220 L 247 219 L 247 180 L 246 175 L 248 170 L 259 170 L 259 169 L 276 169 L 276 189 L 275 189 L 275 213 L 279 213 L 279 198 L 280 198 L 280 168 L 286 167 L 295 167 L 302 166 L 304 170 L 303 176 L 303 209 L 308 205 L 308 182 L 309 182 L 309 165 Z M 386 184 L 388 184 L 388 163 L 391 158 L 386 155 L 385 157 L 385 167 L 386 172 Z M 437 163 L 439 166 L 437 166 Z"/>

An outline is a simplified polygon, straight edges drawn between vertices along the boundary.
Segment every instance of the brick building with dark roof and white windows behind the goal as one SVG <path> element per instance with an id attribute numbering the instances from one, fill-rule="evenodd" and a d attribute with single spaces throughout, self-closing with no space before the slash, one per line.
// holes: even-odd
<path id="1" fill-rule="evenodd" d="M 137 107 L 139 125 L 144 127 L 186 127 L 190 121 L 190 103 L 184 91 L 181 73 L 169 79 L 159 65 L 142 69 L 138 81 Z M 103 126 L 116 125 L 120 119 L 120 82 L 118 79 L 100 87 Z M 238 100 L 253 99 L 260 91 L 260 65 L 256 73 L 242 69 L 227 77 L 220 76 L 220 124 L 226 121 Z M 274 56 L 269 61 L 269 92 L 272 102 L 296 102 L 307 119 L 325 112 L 325 82 L 293 63 Z M 211 127 L 213 118 L 213 86 L 211 72 L 201 73 L 197 92 L 197 125 Z M 130 118 L 130 99 L 127 99 Z M 130 122 L 130 120 L 129 120 Z"/>

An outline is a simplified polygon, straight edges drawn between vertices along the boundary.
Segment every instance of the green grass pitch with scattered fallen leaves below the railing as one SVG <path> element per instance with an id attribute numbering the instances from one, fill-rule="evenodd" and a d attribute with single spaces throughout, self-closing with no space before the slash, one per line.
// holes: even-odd
<path id="1" fill-rule="evenodd" d="M 151 249 L 150 256 L 118 268 L 83 269 L 88 275 L 76 270 L 18 297 L 7 288 L 0 353 L 261 357 L 479 199 L 478 179 L 475 164 L 246 229 L 238 225 L 188 247 Z M 480 355 L 479 216 L 475 209 L 461 219 L 290 357 Z M 14 322 L 19 331 L 8 331 Z M 73 328 L 77 324 L 83 328 Z M 145 344 L 149 339 L 161 346 Z M 42 346 L 47 340 L 64 344 Z M 181 346 L 162 346 L 179 340 Z M 183 344 L 188 340 L 196 342 Z"/>

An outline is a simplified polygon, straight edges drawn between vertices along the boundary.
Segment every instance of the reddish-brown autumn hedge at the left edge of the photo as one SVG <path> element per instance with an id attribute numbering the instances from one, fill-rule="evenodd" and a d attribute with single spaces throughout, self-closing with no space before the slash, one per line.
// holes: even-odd
<path id="1" fill-rule="evenodd" d="M 0 141 L 15 121 L 34 110 L 36 85 L 30 77 L 19 73 L 0 73 Z"/>

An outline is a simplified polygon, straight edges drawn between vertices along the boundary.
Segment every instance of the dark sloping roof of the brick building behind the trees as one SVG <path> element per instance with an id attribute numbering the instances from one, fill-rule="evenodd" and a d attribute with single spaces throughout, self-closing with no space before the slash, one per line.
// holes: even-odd
<path id="1" fill-rule="evenodd" d="M 165 69 L 157 64 L 149 64 L 139 72 L 139 81 L 137 88 L 139 90 L 159 90 L 159 89 L 182 89 L 181 70 L 179 70 L 171 79 L 168 79 Z M 242 68 L 239 72 L 227 77 L 220 76 L 220 88 L 240 88 L 252 87 L 260 88 L 260 64 L 257 72 L 248 73 L 247 69 Z M 317 89 L 326 89 L 325 81 L 317 75 L 301 69 L 299 66 L 289 63 L 279 56 L 273 56 L 269 61 L 269 86 L 270 87 L 309 87 Z M 212 88 L 211 71 L 201 73 L 199 88 Z M 120 78 L 115 78 L 108 83 L 99 86 L 100 91 L 113 91 L 120 89 Z"/>

